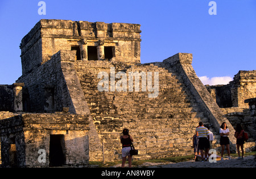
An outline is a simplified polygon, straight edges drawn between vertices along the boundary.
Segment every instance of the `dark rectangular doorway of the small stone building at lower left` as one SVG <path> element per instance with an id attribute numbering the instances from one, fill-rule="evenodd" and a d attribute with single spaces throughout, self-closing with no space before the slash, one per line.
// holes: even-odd
<path id="1" fill-rule="evenodd" d="M 62 166 L 65 164 L 64 135 L 50 135 L 49 166 Z"/>

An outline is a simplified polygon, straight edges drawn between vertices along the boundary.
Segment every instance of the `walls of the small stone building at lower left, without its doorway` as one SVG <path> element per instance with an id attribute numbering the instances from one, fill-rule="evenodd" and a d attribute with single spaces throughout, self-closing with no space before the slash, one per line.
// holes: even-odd
<path id="1" fill-rule="evenodd" d="M 21 114 L 0 120 L 0 123 L 4 167 L 49 166 L 50 135 L 60 134 L 64 135 L 65 164 L 88 165 L 89 127 L 86 115 Z M 45 163 L 38 161 L 39 149 L 46 151 Z M 12 153 L 16 155 L 16 163 L 11 160 Z"/>

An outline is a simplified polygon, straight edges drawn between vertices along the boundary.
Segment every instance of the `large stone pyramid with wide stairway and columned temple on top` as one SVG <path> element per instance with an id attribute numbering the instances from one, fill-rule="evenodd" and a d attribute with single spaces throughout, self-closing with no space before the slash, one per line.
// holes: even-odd
<path id="1" fill-rule="evenodd" d="M 105 160 L 119 160 L 123 128 L 130 129 L 141 159 L 193 153 L 192 136 L 200 120 L 210 126 L 217 144 L 218 127 L 230 123 L 196 76 L 192 55 L 177 53 L 163 62 L 140 64 L 139 28 L 40 20 L 20 44 L 22 76 L 16 82 L 24 83 L 23 109 L 53 113 L 69 107 L 72 114 L 88 115 L 90 160 L 102 161 L 102 143 Z M 96 55 L 89 55 L 88 46 Z M 98 91 L 97 74 L 109 73 L 110 67 L 115 73 L 159 72 L 158 97 L 148 98 L 144 91 Z"/>

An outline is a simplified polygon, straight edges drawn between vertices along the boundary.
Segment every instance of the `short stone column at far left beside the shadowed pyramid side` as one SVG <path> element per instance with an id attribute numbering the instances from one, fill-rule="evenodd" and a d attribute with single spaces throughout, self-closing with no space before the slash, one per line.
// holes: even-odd
<path id="1" fill-rule="evenodd" d="M 22 105 L 22 87 L 24 83 L 13 84 L 13 96 L 14 96 L 14 112 L 23 111 Z"/>

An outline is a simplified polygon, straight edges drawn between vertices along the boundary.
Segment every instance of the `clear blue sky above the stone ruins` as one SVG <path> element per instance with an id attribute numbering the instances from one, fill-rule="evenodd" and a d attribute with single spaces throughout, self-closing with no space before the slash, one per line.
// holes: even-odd
<path id="1" fill-rule="evenodd" d="M 192 53 L 197 76 L 208 83 L 256 70 L 255 0 L 216 0 L 217 15 L 209 15 L 210 0 L 44 0 L 46 15 L 38 2 L 0 1 L 0 84 L 22 75 L 19 44 L 40 19 L 141 24 L 141 63 Z"/>

